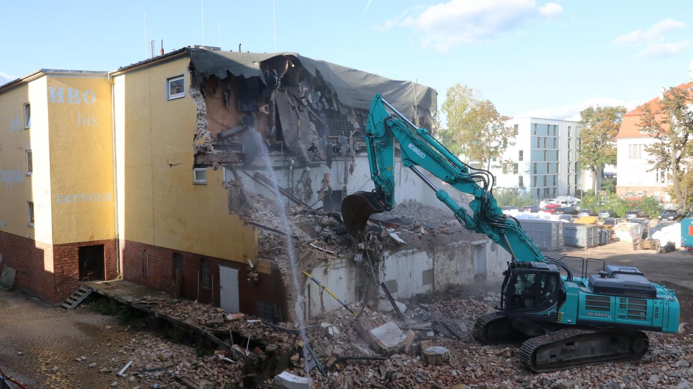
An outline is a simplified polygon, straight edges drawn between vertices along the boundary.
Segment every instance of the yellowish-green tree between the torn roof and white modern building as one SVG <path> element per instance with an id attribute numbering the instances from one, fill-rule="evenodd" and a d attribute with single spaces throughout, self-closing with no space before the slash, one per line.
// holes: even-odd
<path id="1" fill-rule="evenodd" d="M 514 144 L 514 130 L 505 125 L 508 118 L 498 113 L 477 89 L 459 83 L 448 88 L 441 111 L 447 127 L 440 128 L 438 136 L 453 154 L 463 154 L 468 161 L 485 168 L 491 167 L 493 159 L 499 161 L 494 167 L 507 163 L 500 158 Z"/>

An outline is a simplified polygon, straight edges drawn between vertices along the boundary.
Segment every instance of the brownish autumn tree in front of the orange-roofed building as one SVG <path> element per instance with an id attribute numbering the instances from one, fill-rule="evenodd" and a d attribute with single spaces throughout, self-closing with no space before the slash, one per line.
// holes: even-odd
<path id="1" fill-rule="evenodd" d="M 658 141 L 645 148 L 653 170 L 664 170 L 672 180 L 672 194 L 679 205 L 686 206 L 690 198 L 690 179 L 685 178 L 687 158 L 691 155 L 693 136 L 693 95 L 687 88 L 672 87 L 655 104 L 642 105 L 640 128 Z"/>

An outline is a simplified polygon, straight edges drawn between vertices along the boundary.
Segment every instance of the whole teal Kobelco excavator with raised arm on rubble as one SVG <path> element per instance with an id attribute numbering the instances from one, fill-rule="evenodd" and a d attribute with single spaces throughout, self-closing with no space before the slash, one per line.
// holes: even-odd
<path id="1" fill-rule="evenodd" d="M 601 259 L 572 257 L 581 261 L 577 275 L 566 265 L 566 257 L 545 256 L 516 218 L 503 214 L 496 205 L 489 171 L 464 164 L 380 95 L 371 103 L 365 132 L 375 189 L 358 191 L 342 201 L 344 224 L 357 243 L 365 239 L 372 214 L 394 208 L 395 140 L 403 166 L 435 191 L 462 226 L 488 236 L 510 254 L 500 302 L 493 313 L 477 318 L 476 340 L 486 344 L 522 341 L 523 365 L 547 372 L 637 359 L 649 346 L 644 331 L 678 331 L 674 291 L 649 282 L 633 266 L 606 266 Z M 420 168 L 473 200 L 467 207 L 458 205 Z M 587 275 L 590 263 L 602 271 Z"/>

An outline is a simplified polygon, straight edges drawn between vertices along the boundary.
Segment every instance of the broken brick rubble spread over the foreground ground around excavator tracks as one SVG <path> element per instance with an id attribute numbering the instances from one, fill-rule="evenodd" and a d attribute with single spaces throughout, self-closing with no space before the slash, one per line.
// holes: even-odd
<path id="1" fill-rule="evenodd" d="M 404 301 L 405 321 L 391 310 L 351 304 L 319 320 L 306 322 L 308 345 L 319 368 L 314 388 L 693 388 L 693 343 L 685 333 L 648 333 L 650 351 L 640 361 L 534 374 L 525 370 L 519 345 L 481 345 L 471 337 L 475 318 L 493 311 L 498 293 L 445 293 Z M 261 322 L 242 313 L 227 313 L 207 304 L 150 296 L 141 303 L 213 334 L 242 337 L 234 350 L 198 356 L 193 347 L 139 333 L 120 345 L 104 373 L 117 373 L 133 361 L 120 383 L 170 388 L 247 386 L 252 356 L 273 358 L 267 371 L 257 370 L 257 387 L 271 387 L 274 376 L 306 377 L 303 343 L 295 325 Z M 245 339 L 251 340 L 247 347 Z M 242 345 L 242 347 L 239 347 Z M 254 346 L 259 345 L 259 346 Z M 218 356 L 221 354 L 223 359 Z M 240 356 L 246 355 L 247 358 Z M 79 361 L 88 363 L 88 361 Z M 325 374 L 320 372 L 320 368 Z M 271 370 L 270 370 L 271 369 Z M 272 376 L 272 377 L 270 377 Z"/>

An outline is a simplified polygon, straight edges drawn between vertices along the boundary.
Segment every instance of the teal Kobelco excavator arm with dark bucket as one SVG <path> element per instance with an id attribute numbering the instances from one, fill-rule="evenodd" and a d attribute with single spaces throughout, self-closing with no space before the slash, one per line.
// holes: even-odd
<path id="1" fill-rule="evenodd" d="M 424 128 L 416 128 L 380 94 L 373 98 L 366 126 L 366 148 L 371 179 L 376 189 L 359 191 L 342 201 L 347 230 L 358 240 L 371 214 L 394 207 L 394 140 L 400 144 L 402 164 L 416 173 L 438 200 L 443 202 L 465 228 L 484 234 L 507 250 L 514 261 L 545 261 L 515 218 L 502 213 L 491 194 L 493 175 L 464 164 Z M 471 194 L 471 212 L 460 206 L 444 189 L 430 182 L 418 166 L 458 191 Z"/>

